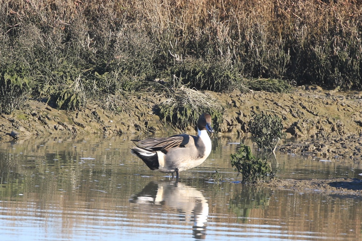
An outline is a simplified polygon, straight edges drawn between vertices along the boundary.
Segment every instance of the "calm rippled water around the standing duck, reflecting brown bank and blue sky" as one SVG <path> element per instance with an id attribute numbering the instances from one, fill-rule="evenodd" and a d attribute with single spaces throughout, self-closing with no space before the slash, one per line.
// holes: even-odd
<path id="1" fill-rule="evenodd" d="M 362 240 L 360 198 L 235 183 L 233 143 L 249 140 L 213 137 L 210 157 L 176 184 L 130 155 L 134 138 L 1 143 L 0 240 Z M 362 173 L 351 160 L 270 159 L 279 178 Z"/>

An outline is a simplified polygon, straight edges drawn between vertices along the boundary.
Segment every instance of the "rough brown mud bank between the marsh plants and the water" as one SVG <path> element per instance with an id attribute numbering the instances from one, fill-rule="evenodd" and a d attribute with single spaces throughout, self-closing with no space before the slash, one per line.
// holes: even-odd
<path id="1" fill-rule="evenodd" d="M 287 137 L 277 150 L 324 158 L 362 158 L 362 92 L 323 90 L 308 85 L 292 93 L 254 91 L 246 94 L 205 92 L 225 108 L 218 135 L 247 135 L 252 111 L 269 111 L 282 118 Z M 140 133 L 162 135 L 179 133 L 161 123 L 154 105 L 162 95 L 151 93 L 125 97 L 118 114 L 88 103 L 81 111 L 52 108 L 41 100 L 27 100 L 11 115 L 0 115 L 0 141 L 46 135 L 84 135 L 90 133 Z M 192 127 L 188 132 L 194 133 Z"/>

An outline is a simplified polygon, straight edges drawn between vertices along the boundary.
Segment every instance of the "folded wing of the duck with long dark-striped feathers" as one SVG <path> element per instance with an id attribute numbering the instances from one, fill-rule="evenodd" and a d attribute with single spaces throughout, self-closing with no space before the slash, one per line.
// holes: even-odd
<path id="1" fill-rule="evenodd" d="M 174 147 L 185 147 L 189 143 L 190 136 L 186 134 L 174 135 L 167 138 L 148 138 L 144 140 L 133 140 L 140 148 L 151 149 L 153 151 L 168 152 Z"/>

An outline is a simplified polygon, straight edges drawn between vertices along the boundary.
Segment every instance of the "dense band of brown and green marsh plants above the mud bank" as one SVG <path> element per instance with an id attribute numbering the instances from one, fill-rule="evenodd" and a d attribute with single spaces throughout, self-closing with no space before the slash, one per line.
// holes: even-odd
<path id="1" fill-rule="evenodd" d="M 66 110 L 101 101 L 119 111 L 126 93 L 165 93 L 170 86 L 175 101 L 181 86 L 361 89 L 361 15 L 355 0 L 1 0 L 0 112 L 27 98 Z M 194 121 L 175 105 L 156 114 L 182 128 Z"/>

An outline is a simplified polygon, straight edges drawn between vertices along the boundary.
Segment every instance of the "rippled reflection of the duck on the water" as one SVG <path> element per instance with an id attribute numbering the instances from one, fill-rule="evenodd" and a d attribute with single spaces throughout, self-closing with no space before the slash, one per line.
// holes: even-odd
<path id="1" fill-rule="evenodd" d="M 157 208 L 180 215 L 181 220 L 193 221 L 194 238 L 205 239 L 209 204 L 197 189 L 183 183 L 150 182 L 130 199 L 131 203 L 157 205 Z M 171 210 L 170 210 L 171 207 Z"/>

